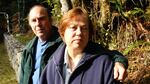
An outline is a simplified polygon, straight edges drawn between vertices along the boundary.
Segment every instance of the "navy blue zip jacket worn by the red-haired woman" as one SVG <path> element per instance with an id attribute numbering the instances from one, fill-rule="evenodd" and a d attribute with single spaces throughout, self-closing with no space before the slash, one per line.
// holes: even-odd
<path id="1" fill-rule="evenodd" d="M 61 44 L 53 54 L 41 75 L 40 84 L 65 84 L 62 77 L 65 47 Z M 102 46 L 89 42 L 68 84 L 113 84 L 113 62 L 110 57 Z"/>

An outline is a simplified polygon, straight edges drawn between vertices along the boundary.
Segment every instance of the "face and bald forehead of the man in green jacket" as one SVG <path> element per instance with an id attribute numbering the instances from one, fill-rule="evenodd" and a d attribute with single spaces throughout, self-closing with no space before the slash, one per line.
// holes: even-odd
<path id="1" fill-rule="evenodd" d="M 46 9 L 41 6 L 33 7 L 29 13 L 29 25 L 36 36 L 40 39 L 47 39 L 51 23 Z"/>

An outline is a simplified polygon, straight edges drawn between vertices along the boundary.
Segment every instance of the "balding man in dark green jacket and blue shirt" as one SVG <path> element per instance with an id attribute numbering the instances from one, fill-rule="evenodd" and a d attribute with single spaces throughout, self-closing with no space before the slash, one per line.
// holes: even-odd
<path id="1" fill-rule="evenodd" d="M 57 28 L 52 26 L 49 16 L 48 9 L 41 4 L 32 6 L 29 11 L 29 25 L 36 36 L 23 51 L 19 84 L 38 84 L 42 70 L 62 42 Z M 125 63 L 127 66 L 127 59 L 120 55 L 115 55 L 113 58 L 116 65 L 114 77 L 123 80 L 126 70 L 125 65 L 123 66 L 121 63 Z"/>

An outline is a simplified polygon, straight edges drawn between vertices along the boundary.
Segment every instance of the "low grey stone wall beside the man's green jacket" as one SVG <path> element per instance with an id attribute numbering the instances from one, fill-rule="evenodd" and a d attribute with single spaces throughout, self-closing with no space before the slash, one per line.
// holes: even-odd
<path id="1" fill-rule="evenodd" d="M 4 34 L 4 42 L 5 46 L 7 47 L 7 53 L 12 68 L 15 70 L 17 80 L 19 80 L 21 54 L 24 45 L 22 45 L 19 41 L 17 41 L 11 34 Z"/>

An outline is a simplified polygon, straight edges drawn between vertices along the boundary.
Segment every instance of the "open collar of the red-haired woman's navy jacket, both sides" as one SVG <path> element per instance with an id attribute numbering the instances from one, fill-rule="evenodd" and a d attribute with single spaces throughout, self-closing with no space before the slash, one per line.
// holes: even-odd
<path id="1" fill-rule="evenodd" d="M 64 63 L 64 52 L 65 52 L 66 45 L 65 43 L 62 43 L 56 52 L 53 54 L 53 61 L 55 65 L 60 66 Z M 105 48 L 103 48 L 101 45 L 97 45 L 96 43 L 89 42 L 87 47 L 85 48 L 83 52 L 83 57 L 80 60 L 79 64 L 83 64 L 86 61 L 95 58 L 97 56 L 100 56 L 101 54 L 106 54 Z"/>

